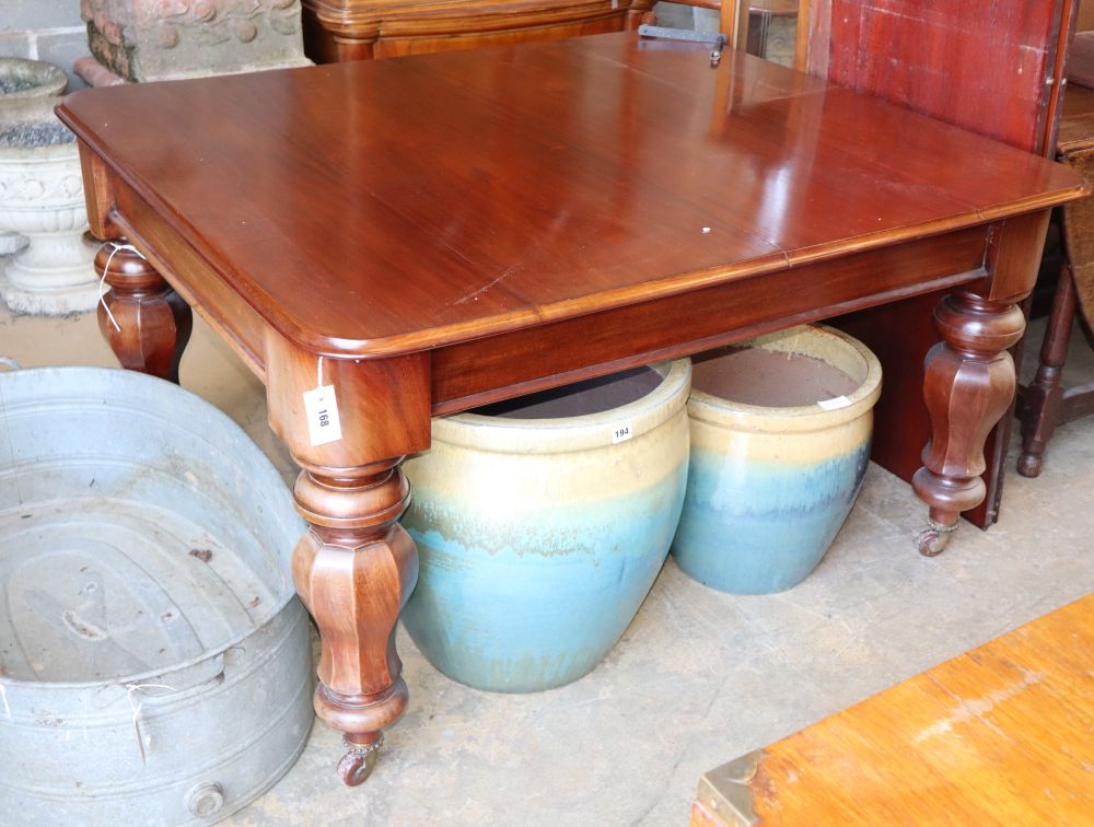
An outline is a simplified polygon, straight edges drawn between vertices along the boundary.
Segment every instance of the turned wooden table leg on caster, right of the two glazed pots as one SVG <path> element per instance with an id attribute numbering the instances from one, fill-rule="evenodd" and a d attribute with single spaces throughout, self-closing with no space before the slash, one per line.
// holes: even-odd
<path id="1" fill-rule="evenodd" d="M 934 312 L 943 341 L 927 356 L 923 397 L 931 440 L 912 486 L 930 505 L 930 527 L 919 550 L 941 552 L 961 512 L 979 504 L 986 488 L 984 443 L 1014 395 L 1014 361 L 1006 349 L 1022 338 L 1025 318 L 1015 304 L 961 290 Z"/>

